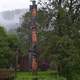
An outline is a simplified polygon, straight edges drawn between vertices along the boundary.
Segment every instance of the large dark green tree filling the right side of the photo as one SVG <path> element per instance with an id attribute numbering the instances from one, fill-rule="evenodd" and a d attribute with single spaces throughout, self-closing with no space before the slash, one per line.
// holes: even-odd
<path id="1" fill-rule="evenodd" d="M 42 2 L 40 2 L 42 5 Z M 67 80 L 79 80 L 80 75 L 80 7 L 79 0 L 50 0 L 43 10 L 48 11 L 54 30 L 46 32 L 47 39 L 41 43 L 43 55 L 52 68 L 58 70 Z M 44 7 L 44 6 L 43 6 Z M 51 12 L 54 11 L 53 12 Z M 76 15 L 77 14 L 77 15 Z M 55 18 L 55 20 L 52 18 Z M 47 23 L 46 23 L 47 24 Z M 42 60 L 42 59 L 41 59 Z"/>

